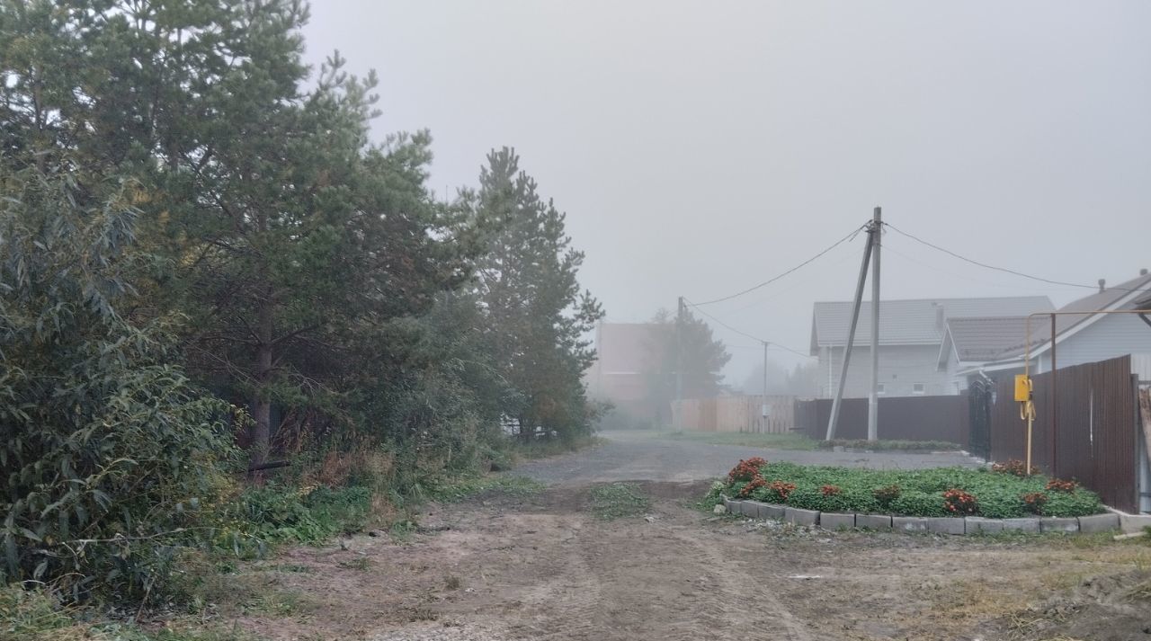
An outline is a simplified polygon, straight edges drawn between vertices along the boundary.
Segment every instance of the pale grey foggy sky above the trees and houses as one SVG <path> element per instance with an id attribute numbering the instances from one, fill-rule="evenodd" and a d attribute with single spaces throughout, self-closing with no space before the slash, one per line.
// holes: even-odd
<path id="1" fill-rule="evenodd" d="M 437 192 L 491 147 L 567 213 L 612 321 L 767 280 L 882 206 L 974 259 L 1118 283 L 1151 267 L 1151 3 L 313 0 L 307 60 L 380 74 L 374 136 L 428 128 Z M 863 237 L 704 307 L 807 351 Z M 897 253 L 898 252 L 898 253 Z M 884 298 L 1049 295 L 889 232 Z M 760 348 L 715 323 L 739 384 Z M 772 351 L 780 364 L 799 361 Z"/>

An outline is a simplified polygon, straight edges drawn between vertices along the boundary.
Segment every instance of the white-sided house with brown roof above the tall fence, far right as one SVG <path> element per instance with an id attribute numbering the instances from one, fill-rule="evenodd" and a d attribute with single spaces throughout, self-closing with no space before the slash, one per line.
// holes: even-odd
<path id="1" fill-rule="evenodd" d="M 1067 367 L 1129 353 L 1151 353 L 1148 321 L 1136 314 L 1090 313 L 1149 308 L 1151 275 L 1146 269 L 1138 277 L 1110 288 L 1100 281 L 1099 291 L 1059 308 L 1085 313 L 1055 316 L 1055 365 Z M 938 369 L 961 389 L 975 377 L 1014 375 L 1023 371 L 1028 342 L 1032 372 L 1050 371 L 1050 316 L 1031 319 L 1030 341 L 1026 315 L 950 320 L 939 349 Z"/>

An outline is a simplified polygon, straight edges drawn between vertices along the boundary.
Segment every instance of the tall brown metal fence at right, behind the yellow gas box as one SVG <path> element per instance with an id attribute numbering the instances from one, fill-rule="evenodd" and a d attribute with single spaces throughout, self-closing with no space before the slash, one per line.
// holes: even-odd
<path id="1" fill-rule="evenodd" d="M 1138 404 L 1130 357 L 1060 368 L 1054 387 L 1050 373 L 1032 380 L 1032 464 L 1053 476 L 1077 480 L 1107 505 L 1137 511 Z M 1014 381 L 998 381 L 991 458 L 1023 459 L 1026 448 L 1027 423 L 1014 402 Z"/>

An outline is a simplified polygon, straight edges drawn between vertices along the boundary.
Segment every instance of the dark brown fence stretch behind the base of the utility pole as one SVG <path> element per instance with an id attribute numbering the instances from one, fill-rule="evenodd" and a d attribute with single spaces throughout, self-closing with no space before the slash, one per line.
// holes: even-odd
<path id="1" fill-rule="evenodd" d="M 845 398 L 836 438 L 867 438 L 867 398 Z M 831 399 L 795 402 L 795 429 L 823 440 Z M 879 438 L 947 441 L 967 447 L 970 421 L 967 396 L 902 396 L 879 399 Z"/>

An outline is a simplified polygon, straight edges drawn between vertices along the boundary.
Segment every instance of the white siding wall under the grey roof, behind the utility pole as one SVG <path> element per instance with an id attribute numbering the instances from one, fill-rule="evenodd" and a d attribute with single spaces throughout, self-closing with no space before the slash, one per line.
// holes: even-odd
<path id="1" fill-rule="evenodd" d="M 915 383 L 923 384 L 923 394 L 937 396 L 959 394 L 947 372 L 937 372 L 938 345 L 891 345 L 879 348 L 879 382 L 884 384 L 884 396 L 912 396 Z M 821 349 L 820 372 L 822 396 L 836 395 L 839 369 L 843 366 L 844 349 Z M 830 375 L 829 375 L 830 374 Z M 855 348 L 847 371 L 845 398 L 866 398 L 871 392 L 871 350 Z"/>

